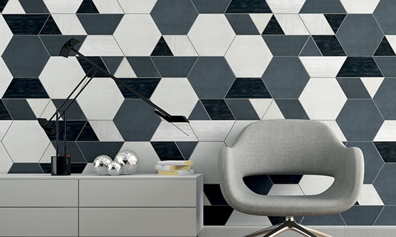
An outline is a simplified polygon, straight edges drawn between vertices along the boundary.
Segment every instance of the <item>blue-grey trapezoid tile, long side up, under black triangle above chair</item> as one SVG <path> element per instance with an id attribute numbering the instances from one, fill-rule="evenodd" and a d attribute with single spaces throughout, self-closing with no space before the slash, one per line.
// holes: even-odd
<path id="1" fill-rule="evenodd" d="M 308 40 L 308 35 L 263 35 L 272 55 L 298 56 Z"/>

